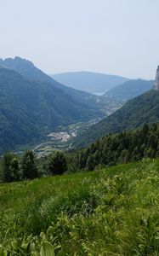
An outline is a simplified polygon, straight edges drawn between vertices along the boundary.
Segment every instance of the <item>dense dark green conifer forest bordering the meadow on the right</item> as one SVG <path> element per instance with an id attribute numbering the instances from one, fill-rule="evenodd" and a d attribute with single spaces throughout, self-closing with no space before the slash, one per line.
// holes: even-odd
<path id="1" fill-rule="evenodd" d="M 159 125 L 144 125 L 137 131 L 100 138 L 87 148 L 71 152 L 70 168 L 94 170 L 95 166 L 113 166 L 159 156 Z"/>

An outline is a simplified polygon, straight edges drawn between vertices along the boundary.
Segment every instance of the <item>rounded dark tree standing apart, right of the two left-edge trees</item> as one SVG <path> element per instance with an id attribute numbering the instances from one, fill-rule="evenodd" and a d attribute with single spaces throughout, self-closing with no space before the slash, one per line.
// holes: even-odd
<path id="1" fill-rule="evenodd" d="M 48 159 L 48 172 L 60 175 L 67 171 L 67 160 L 62 151 L 55 151 Z"/>

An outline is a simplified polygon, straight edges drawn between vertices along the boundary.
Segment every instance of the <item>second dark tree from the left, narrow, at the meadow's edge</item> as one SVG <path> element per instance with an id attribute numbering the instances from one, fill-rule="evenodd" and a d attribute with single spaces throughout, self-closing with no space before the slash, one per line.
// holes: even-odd
<path id="1" fill-rule="evenodd" d="M 31 150 L 26 150 L 21 160 L 22 177 L 32 179 L 38 177 L 35 154 Z"/>

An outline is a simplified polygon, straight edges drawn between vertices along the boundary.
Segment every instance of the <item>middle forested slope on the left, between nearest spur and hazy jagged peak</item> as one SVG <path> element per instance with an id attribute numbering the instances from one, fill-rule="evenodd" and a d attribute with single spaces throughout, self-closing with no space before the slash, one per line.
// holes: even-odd
<path id="1" fill-rule="evenodd" d="M 0 68 L 0 89 L 11 96 L 14 102 L 25 106 L 48 129 L 91 119 L 98 113 L 76 102 L 63 90 L 51 84 L 24 79 L 9 68 Z"/>

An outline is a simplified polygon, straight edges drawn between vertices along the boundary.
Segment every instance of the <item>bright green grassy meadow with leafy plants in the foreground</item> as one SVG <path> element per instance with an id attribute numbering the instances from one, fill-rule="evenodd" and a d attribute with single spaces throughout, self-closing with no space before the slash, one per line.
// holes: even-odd
<path id="1" fill-rule="evenodd" d="M 159 160 L 0 184 L 3 255 L 159 255 Z"/>

